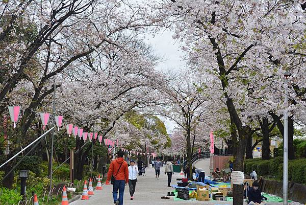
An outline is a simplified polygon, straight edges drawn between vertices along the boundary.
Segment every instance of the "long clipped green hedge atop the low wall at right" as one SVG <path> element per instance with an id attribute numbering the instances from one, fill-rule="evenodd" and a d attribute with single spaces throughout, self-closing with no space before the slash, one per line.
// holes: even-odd
<path id="1" fill-rule="evenodd" d="M 246 173 L 255 170 L 260 176 L 283 179 L 283 157 L 275 157 L 271 160 L 261 158 L 245 160 L 244 171 Z M 288 179 L 296 183 L 306 184 L 306 158 L 290 160 L 288 162 Z"/>

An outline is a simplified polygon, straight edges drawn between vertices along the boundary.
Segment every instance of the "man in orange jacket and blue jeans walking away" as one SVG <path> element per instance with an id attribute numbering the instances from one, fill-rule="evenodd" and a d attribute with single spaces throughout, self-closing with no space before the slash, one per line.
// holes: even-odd
<path id="1" fill-rule="evenodd" d="M 127 168 L 127 163 L 123 160 L 123 155 L 123 151 L 119 150 L 117 152 L 117 158 L 116 160 L 113 160 L 107 173 L 108 181 L 111 180 L 112 175 L 115 177 L 115 181 L 113 184 L 113 198 L 115 205 L 123 204 L 124 186 L 129 183 L 129 168 Z"/>

